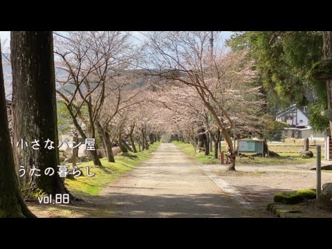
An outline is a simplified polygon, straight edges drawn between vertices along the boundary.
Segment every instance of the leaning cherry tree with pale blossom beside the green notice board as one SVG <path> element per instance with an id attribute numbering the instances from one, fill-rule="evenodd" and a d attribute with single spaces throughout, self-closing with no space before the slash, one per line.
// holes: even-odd
<path id="1" fill-rule="evenodd" d="M 234 170 L 232 110 L 240 110 L 239 102 L 248 104 L 259 94 L 257 88 L 250 88 L 256 73 L 253 62 L 245 57 L 246 51 L 237 53 L 215 47 L 212 55 L 210 32 L 154 32 L 147 37 L 149 68 L 153 68 L 147 74 L 181 82 L 196 91 L 228 144 L 230 170 Z M 251 106 L 259 107 L 259 100 L 251 102 Z M 255 118 L 250 113 L 246 116 Z"/>

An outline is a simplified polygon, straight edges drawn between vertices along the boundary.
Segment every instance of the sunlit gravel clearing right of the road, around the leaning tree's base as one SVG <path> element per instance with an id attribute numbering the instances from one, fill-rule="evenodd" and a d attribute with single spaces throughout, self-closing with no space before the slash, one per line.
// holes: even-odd
<path id="1" fill-rule="evenodd" d="M 255 210 L 266 213 L 266 205 L 273 202 L 277 192 L 291 192 L 315 189 L 316 172 L 299 169 L 297 165 L 255 165 L 237 166 L 236 172 L 229 172 L 223 165 L 204 165 L 212 174 L 240 192 L 243 199 L 252 202 Z M 332 182 L 332 173 L 322 172 L 322 185 Z M 326 216 L 326 212 L 310 207 L 312 216 Z"/>

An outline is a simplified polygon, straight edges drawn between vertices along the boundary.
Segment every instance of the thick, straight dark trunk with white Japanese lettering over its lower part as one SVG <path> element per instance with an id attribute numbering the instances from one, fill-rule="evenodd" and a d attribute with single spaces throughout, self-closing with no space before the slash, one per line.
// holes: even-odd
<path id="1" fill-rule="evenodd" d="M 18 168 L 26 167 L 27 171 L 20 178 L 21 185 L 34 191 L 32 186 L 36 183 L 47 194 L 68 193 L 56 173 L 59 151 L 53 34 L 50 31 L 13 31 L 10 48 L 15 164 Z M 35 140 L 39 141 L 39 149 L 32 149 Z M 45 148 L 46 140 L 53 141 L 54 148 Z M 33 166 L 40 170 L 40 176 L 30 176 Z M 48 167 L 55 170 L 53 176 L 44 174 Z"/>

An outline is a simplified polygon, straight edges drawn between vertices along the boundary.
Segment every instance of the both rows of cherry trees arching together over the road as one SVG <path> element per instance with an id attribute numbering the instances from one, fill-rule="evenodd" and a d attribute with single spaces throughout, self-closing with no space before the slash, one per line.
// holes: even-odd
<path id="1" fill-rule="evenodd" d="M 199 147 L 212 139 L 215 157 L 222 137 L 234 169 L 234 122 L 238 137 L 261 129 L 254 62 L 246 50 L 212 50 L 210 32 L 145 35 L 145 44 L 136 47 L 128 33 L 117 31 L 57 35 L 57 95 L 75 129 L 82 138 L 98 133 L 110 162 L 113 142 L 122 151 L 137 151 L 135 144 L 146 149 L 160 131 L 181 134 L 193 145 L 200 141 Z M 90 153 L 101 165 L 98 154 Z"/>

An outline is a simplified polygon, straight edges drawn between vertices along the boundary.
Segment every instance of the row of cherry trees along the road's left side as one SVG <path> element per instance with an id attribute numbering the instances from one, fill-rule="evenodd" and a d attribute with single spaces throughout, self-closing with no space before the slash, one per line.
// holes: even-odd
<path id="1" fill-rule="evenodd" d="M 77 31 L 55 39 L 57 95 L 64 101 L 73 126 L 82 138 L 100 138 L 109 162 L 115 162 L 112 145 L 124 152 L 140 151 L 156 140 L 147 110 L 149 89 L 140 86 L 137 70 L 142 47 L 120 31 Z M 123 138 L 129 138 L 131 146 Z M 138 148 L 136 148 L 136 144 Z M 93 163 L 102 165 L 96 151 Z"/>

